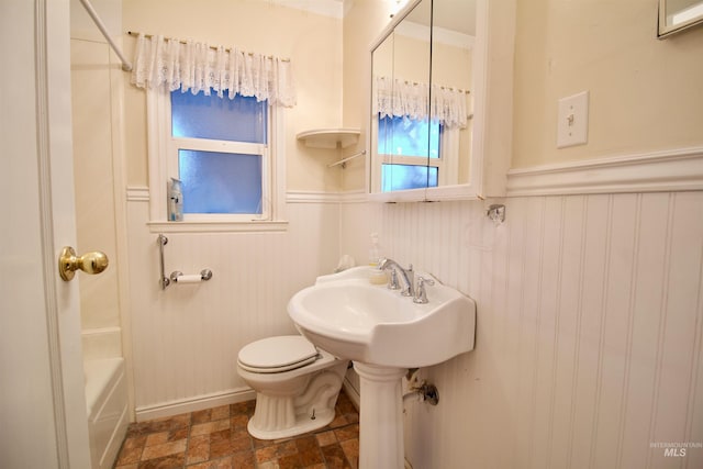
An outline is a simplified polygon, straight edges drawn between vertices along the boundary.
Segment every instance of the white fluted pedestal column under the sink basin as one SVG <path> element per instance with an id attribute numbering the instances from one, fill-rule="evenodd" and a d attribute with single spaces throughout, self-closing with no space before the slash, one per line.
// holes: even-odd
<path id="1" fill-rule="evenodd" d="M 405 369 L 354 362 L 361 382 L 359 469 L 403 469 Z"/>

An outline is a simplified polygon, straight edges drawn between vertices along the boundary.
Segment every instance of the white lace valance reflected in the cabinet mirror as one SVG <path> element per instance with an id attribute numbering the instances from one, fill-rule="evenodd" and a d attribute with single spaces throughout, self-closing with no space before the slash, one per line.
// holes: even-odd
<path id="1" fill-rule="evenodd" d="M 380 113 L 381 118 L 426 120 L 432 110 L 432 119 L 439 120 L 444 125 L 465 127 L 468 120 L 467 97 L 464 90 L 433 85 L 431 103 L 429 86 L 425 83 L 377 77 L 373 111 Z"/>

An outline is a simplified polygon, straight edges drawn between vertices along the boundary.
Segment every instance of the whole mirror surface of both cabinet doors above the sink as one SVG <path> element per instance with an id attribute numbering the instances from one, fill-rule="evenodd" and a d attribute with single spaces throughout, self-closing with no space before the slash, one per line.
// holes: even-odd
<path id="1" fill-rule="evenodd" d="M 371 192 L 469 182 L 475 25 L 475 0 L 422 0 L 372 51 Z"/>

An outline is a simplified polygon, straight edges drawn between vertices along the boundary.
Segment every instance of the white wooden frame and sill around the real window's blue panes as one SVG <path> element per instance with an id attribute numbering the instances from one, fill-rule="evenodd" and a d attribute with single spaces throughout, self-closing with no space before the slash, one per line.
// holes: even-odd
<path id="1" fill-rule="evenodd" d="M 190 92 L 190 91 L 188 91 Z M 284 230 L 284 110 L 268 105 L 266 144 L 171 135 L 170 92 L 147 89 L 147 141 L 149 170 L 149 227 L 153 232 L 280 231 Z M 228 99 L 224 97 L 223 99 Z M 185 145 L 183 145 L 185 144 Z M 178 149 L 261 155 L 261 214 L 185 213 L 182 222 L 167 221 L 170 178 L 178 178 Z"/>

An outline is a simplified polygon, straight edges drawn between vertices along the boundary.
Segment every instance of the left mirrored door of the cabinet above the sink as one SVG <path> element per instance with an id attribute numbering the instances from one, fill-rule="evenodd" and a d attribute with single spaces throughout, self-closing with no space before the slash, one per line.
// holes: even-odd
<path id="1" fill-rule="evenodd" d="M 427 165 L 439 138 L 429 120 L 432 0 L 401 14 L 372 52 L 371 192 L 436 185 Z"/>

